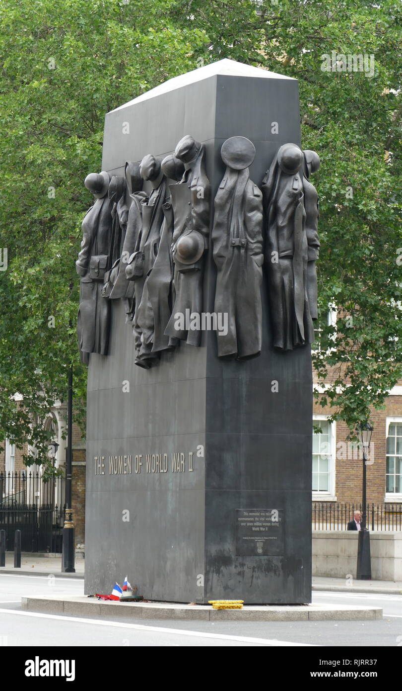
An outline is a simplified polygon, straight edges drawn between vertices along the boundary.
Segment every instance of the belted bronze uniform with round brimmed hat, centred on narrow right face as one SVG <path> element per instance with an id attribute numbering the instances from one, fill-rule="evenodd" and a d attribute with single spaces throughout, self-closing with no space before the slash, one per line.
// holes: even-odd
<path id="1" fill-rule="evenodd" d="M 218 356 L 246 359 L 261 353 L 262 194 L 249 176 L 255 156 L 250 140 L 226 140 L 221 156 L 226 170 L 215 196 L 212 228 L 214 311 L 228 314 L 228 330 L 217 335 Z"/>

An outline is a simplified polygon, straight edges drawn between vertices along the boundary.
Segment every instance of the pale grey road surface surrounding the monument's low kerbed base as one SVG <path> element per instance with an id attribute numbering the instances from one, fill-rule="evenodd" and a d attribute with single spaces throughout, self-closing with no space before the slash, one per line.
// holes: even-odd
<path id="1" fill-rule="evenodd" d="M 115 621 L 108 617 L 79 617 L 24 612 L 21 597 L 81 596 L 83 579 L 54 578 L 37 574 L 0 574 L 0 644 L 17 646 L 108 645 L 111 647 L 265 647 L 318 645 L 355 647 L 351 659 L 367 656 L 367 646 L 401 645 L 402 596 L 314 591 L 313 603 L 373 605 L 383 607 L 383 620 L 212 622 Z M 362 647 L 363 646 L 363 647 Z M 304 649 L 305 650 L 305 649 Z M 310 649 L 311 650 L 311 649 Z M 319 649 L 317 649 L 319 650 Z M 317 654 L 319 654 L 317 652 Z M 318 668 L 318 667 L 317 667 Z"/>

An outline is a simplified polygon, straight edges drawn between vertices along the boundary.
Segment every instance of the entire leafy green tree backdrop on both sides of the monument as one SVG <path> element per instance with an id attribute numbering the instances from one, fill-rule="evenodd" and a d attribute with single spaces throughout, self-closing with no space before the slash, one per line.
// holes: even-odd
<path id="1" fill-rule="evenodd" d="M 402 376 L 401 19 L 392 0 L 2 0 L 3 435 L 35 445 L 46 463 L 43 418 L 66 397 L 70 364 L 76 402 L 85 400 L 74 261 L 91 203 L 83 178 L 100 168 L 105 113 L 222 57 L 299 79 L 303 148 L 321 156 L 314 367 L 322 380 L 330 367 L 331 377 L 321 400 L 350 428 L 381 406 Z M 348 55 L 359 54 L 368 69 L 349 70 Z"/>

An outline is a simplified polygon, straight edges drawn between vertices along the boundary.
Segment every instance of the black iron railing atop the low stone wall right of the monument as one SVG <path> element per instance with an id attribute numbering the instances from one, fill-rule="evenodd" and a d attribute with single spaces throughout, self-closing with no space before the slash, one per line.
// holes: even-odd
<path id="1" fill-rule="evenodd" d="M 313 530 L 346 530 L 354 511 L 362 512 L 362 504 L 313 502 Z M 363 513 L 363 512 L 362 512 Z M 402 530 L 402 504 L 367 504 L 366 526 L 371 531 Z"/>

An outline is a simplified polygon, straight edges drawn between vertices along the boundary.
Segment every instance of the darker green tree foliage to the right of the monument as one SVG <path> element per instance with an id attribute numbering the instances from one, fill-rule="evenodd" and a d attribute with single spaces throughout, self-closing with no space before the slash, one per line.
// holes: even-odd
<path id="1" fill-rule="evenodd" d="M 321 157 L 312 178 L 322 329 L 313 363 L 328 385 L 321 405 L 353 430 L 402 377 L 401 3 L 190 0 L 174 12 L 179 26 L 191 12 L 208 33 L 211 59 L 299 80 L 303 148 Z M 362 65 L 349 58 L 358 55 Z"/>

